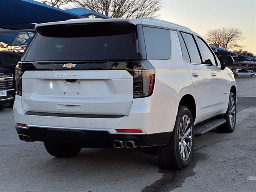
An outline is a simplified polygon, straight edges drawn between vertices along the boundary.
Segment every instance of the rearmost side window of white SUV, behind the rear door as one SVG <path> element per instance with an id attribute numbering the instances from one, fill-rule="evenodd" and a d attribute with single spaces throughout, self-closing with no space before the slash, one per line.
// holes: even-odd
<path id="1" fill-rule="evenodd" d="M 144 38 L 148 59 L 170 58 L 170 30 L 144 27 Z"/>

